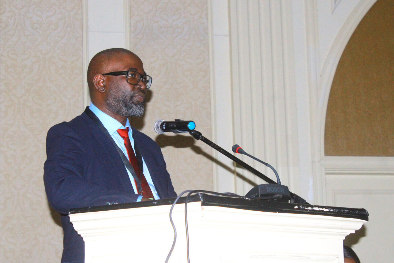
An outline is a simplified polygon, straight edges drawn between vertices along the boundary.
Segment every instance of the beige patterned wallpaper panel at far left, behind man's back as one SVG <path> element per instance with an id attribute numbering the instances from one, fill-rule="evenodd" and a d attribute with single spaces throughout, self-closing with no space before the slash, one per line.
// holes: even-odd
<path id="1" fill-rule="evenodd" d="M 43 185 L 45 137 L 82 111 L 82 5 L 1 0 L 0 19 L 0 262 L 59 262 L 63 233 Z"/>

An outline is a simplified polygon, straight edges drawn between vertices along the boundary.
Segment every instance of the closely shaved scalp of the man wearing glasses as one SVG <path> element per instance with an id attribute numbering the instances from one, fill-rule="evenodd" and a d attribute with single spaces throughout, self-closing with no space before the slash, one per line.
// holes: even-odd
<path id="1" fill-rule="evenodd" d="M 108 70 L 111 71 L 110 68 L 114 63 L 113 58 L 119 54 L 132 55 L 138 58 L 136 54 L 125 48 L 109 48 L 95 54 L 95 56 L 90 60 L 89 66 L 87 67 L 87 85 L 89 87 L 90 98 L 92 101 L 95 96 L 95 85 L 93 83 L 94 76 L 97 74 L 107 73 Z"/>

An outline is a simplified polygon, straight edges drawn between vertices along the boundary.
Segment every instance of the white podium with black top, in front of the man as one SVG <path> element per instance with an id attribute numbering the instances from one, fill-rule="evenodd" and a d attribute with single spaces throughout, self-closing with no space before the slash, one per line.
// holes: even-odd
<path id="1" fill-rule="evenodd" d="M 174 232 L 173 199 L 73 209 L 85 263 L 165 262 Z M 185 263 L 183 203 L 175 205 L 177 242 L 169 259 Z M 188 203 L 192 263 L 343 263 L 343 239 L 368 221 L 365 209 L 322 207 L 202 194 Z"/>

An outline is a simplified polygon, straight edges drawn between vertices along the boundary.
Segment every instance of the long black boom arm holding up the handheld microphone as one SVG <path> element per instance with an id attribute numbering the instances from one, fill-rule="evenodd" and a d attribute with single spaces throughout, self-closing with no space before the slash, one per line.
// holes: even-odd
<path id="1" fill-rule="evenodd" d="M 243 168 L 245 168 L 249 172 L 257 175 L 258 177 L 260 177 L 261 179 L 263 179 L 267 183 L 277 184 L 277 182 L 273 181 L 272 179 L 270 179 L 266 175 L 258 172 L 255 168 L 253 168 L 249 164 L 243 162 L 242 160 L 238 159 L 237 157 L 235 157 L 234 155 L 232 155 L 231 153 L 229 153 L 225 149 L 221 148 L 219 145 L 217 145 L 214 142 L 212 142 L 212 141 L 208 140 L 207 138 L 205 138 L 203 136 L 203 134 L 201 134 L 201 132 L 193 130 L 193 131 L 190 131 L 189 133 L 196 140 L 201 140 L 201 141 L 205 142 L 206 144 L 208 144 L 209 146 L 214 148 L 219 153 L 222 153 L 223 155 L 227 156 L 228 158 L 230 158 L 231 160 L 233 160 L 234 162 L 236 162 L 237 164 L 239 164 L 240 166 L 242 166 Z M 297 196 L 296 194 L 294 194 L 292 192 L 290 192 L 290 203 L 309 204 L 307 201 L 305 201 L 305 199 L 301 198 L 300 196 Z"/>

